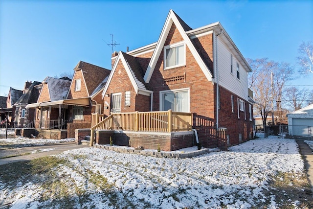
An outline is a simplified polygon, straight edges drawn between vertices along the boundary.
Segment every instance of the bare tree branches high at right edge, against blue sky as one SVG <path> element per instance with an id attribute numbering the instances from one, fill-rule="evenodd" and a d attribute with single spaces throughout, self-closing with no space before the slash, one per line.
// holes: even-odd
<path id="1" fill-rule="evenodd" d="M 302 74 L 313 73 L 313 43 L 302 42 L 298 48 L 298 53 L 297 61 L 300 65 L 299 72 Z"/>

